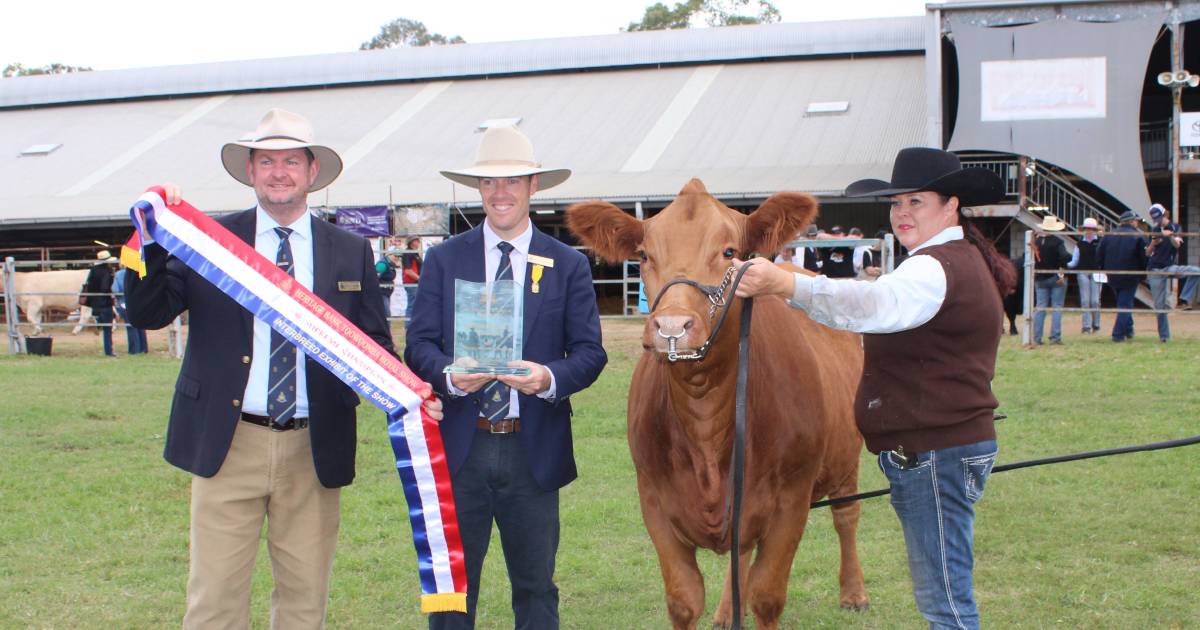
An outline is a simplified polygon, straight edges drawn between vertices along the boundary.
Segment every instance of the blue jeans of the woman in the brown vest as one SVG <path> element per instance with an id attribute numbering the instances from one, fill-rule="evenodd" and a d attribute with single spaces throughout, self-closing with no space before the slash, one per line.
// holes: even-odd
<path id="1" fill-rule="evenodd" d="M 892 485 L 892 508 L 904 528 L 917 610 L 929 628 L 978 629 L 974 504 L 996 463 L 996 440 L 917 454 L 901 468 L 890 451 L 878 456 Z"/>

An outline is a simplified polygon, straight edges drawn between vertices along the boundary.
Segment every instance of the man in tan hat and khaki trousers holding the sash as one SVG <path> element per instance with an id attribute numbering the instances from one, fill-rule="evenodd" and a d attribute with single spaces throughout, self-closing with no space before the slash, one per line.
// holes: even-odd
<path id="1" fill-rule="evenodd" d="M 341 158 L 313 143 L 308 120 L 282 109 L 250 138 L 226 144 L 221 161 L 258 204 L 221 224 L 391 350 L 371 246 L 308 209 Z M 178 200 L 168 187 L 167 202 Z M 184 628 L 250 626 L 264 518 L 271 628 L 323 628 L 359 397 L 161 246 L 148 245 L 145 257 L 146 277 L 127 288 L 130 323 L 158 329 L 190 313 L 164 452 L 194 475 Z"/>

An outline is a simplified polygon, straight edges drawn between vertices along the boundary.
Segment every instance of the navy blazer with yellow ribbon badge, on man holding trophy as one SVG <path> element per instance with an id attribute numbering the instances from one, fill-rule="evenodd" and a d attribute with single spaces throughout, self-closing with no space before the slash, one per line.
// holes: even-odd
<path id="1" fill-rule="evenodd" d="M 523 359 L 545 365 L 554 374 L 556 398 L 518 395 L 521 431 L 517 433 L 533 472 L 546 491 L 577 476 L 571 444 L 570 396 L 600 376 L 608 356 L 600 343 L 600 313 L 592 271 L 582 253 L 533 228 L 529 253 L 554 260 L 533 293 L 524 278 Z M 442 370 L 454 361 L 454 282 L 484 282 L 484 228 L 454 236 L 425 257 L 421 280 L 408 324 L 404 362 L 430 382 L 443 398 L 442 442 L 451 474 L 467 461 L 478 428 L 479 408 L 470 396 L 450 396 Z"/>

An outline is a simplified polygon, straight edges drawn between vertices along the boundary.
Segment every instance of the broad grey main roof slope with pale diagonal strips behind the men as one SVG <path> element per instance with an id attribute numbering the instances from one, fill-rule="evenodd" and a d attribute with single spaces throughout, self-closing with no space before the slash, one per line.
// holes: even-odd
<path id="1" fill-rule="evenodd" d="M 696 72 L 706 73 L 703 89 L 672 109 Z M 0 112 L 0 224 L 127 216 L 146 186 L 163 181 L 181 184 L 206 211 L 247 208 L 252 191 L 217 155 L 271 107 L 308 116 L 317 140 L 343 156 L 362 148 L 332 186 L 310 197 L 312 205 L 478 202 L 438 170 L 473 161 L 479 122 L 516 116 L 544 164 L 575 173 L 535 202 L 670 198 L 692 176 L 728 196 L 839 191 L 886 178 L 900 148 L 922 144 L 924 76 L 917 54 L 10 109 Z M 805 114 L 810 102 L 828 101 L 850 108 Z M 622 172 L 668 115 L 680 119 L 667 125 L 648 168 Z M 62 146 L 18 157 L 46 143 Z"/>

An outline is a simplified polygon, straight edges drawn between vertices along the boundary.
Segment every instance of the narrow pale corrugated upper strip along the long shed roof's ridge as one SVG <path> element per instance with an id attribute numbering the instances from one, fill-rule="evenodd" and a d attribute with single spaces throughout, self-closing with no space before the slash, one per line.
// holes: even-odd
<path id="1" fill-rule="evenodd" d="M 684 29 L 0 80 L 0 108 L 126 98 L 924 50 L 924 17 Z"/>

